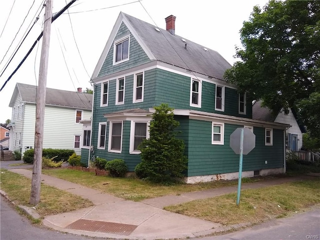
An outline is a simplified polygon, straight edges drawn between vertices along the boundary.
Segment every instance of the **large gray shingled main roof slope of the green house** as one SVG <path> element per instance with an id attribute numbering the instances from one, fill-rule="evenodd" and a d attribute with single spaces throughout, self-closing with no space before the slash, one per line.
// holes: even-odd
<path id="1" fill-rule="evenodd" d="M 223 74 L 231 65 L 217 51 L 172 35 L 169 31 L 155 30 L 154 25 L 122 12 L 158 61 L 192 70 L 207 76 L 224 79 Z M 186 42 L 183 42 L 181 39 Z M 186 43 L 186 49 L 184 44 Z M 205 51 L 203 48 L 206 48 Z"/>

